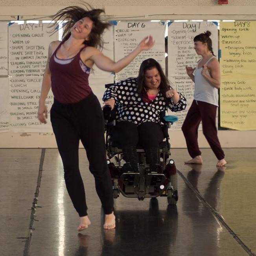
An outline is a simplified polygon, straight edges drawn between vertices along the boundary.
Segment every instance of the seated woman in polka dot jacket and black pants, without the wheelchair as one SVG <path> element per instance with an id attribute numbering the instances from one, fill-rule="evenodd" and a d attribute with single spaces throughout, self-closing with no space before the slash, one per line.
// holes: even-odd
<path id="1" fill-rule="evenodd" d="M 116 125 L 111 140 L 122 149 L 124 171 L 138 171 L 136 147 L 145 150 L 149 171 L 162 173 L 160 143 L 164 139 L 161 113 L 168 108 L 182 111 L 186 98 L 171 87 L 162 67 L 155 59 L 140 65 L 137 78 L 122 80 L 105 91 L 103 101 L 116 109 Z"/>

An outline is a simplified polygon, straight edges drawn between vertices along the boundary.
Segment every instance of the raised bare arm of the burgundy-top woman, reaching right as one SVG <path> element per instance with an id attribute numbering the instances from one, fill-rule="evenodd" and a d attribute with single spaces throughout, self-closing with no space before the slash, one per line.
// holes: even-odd
<path id="1" fill-rule="evenodd" d="M 153 41 L 152 36 L 145 37 L 131 53 L 117 62 L 112 61 L 99 50 L 94 48 L 92 55 L 90 56 L 90 60 L 92 60 L 101 70 L 117 73 L 131 63 L 131 61 L 133 61 L 140 52 L 143 50 L 149 50 L 154 46 L 154 44 L 155 41 Z"/>

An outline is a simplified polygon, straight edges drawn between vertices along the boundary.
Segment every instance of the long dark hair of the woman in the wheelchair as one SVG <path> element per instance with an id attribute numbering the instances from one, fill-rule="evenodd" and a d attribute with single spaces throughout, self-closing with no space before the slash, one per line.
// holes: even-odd
<path id="1" fill-rule="evenodd" d="M 138 83 L 138 94 L 140 95 L 140 97 L 142 99 L 148 99 L 147 96 L 147 87 L 145 87 L 145 72 L 147 70 L 150 70 L 152 68 L 157 68 L 160 77 L 161 77 L 161 83 L 160 83 L 160 92 L 162 93 L 162 95 L 164 96 L 164 98 L 166 98 L 166 92 L 172 88 L 170 85 L 170 82 L 168 80 L 168 78 L 165 76 L 161 65 L 155 60 L 155 59 L 146 59 L 145 61 L 142 61 L 141 65 L 140 65 L 140 71 L 139 71 L 139 75 L 137 77 L 137 83 Z"/>

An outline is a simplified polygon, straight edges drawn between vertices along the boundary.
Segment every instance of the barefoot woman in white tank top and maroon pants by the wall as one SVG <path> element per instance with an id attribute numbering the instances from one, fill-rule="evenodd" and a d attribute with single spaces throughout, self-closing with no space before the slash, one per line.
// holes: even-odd
<path id="1" fill-rule="evenodd" d="M 211 32 L 206 31 L 194 38 L 195 51 L 202 56 L 197 67 L 186 66 L 188 76 L 195 83 L 194 100 L 182 125 L 188 153 L 192 157 L 185 164 L 203 164 L 197 137 L 202 121 L 203 134 L 218 159 L 217 166 L 225 166 L 225 154 L 219 143 L 216 128 L 220 65 L 212 50 Z M 194 74 L 193 74 L 194 73 Z"/>

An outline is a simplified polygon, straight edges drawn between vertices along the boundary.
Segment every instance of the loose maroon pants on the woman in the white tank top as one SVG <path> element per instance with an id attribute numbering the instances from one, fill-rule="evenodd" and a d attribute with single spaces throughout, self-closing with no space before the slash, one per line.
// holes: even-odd
<path id="1" fill-rule="evenodd" d="M 215 122 L 216 111 L 217 106 L 215 105 L 203 101 L 193 100 L 181 128 L 186 139 L 188 153 L 192 158 L 201 155 L 197 142 L 198 127 L 201 121 L 203 126 L 203 134 L 210 144 L 212 151 L 214 151 L 215 156 L 218 160 L 225 157 L 217 137 L 217 128 Z"/>

